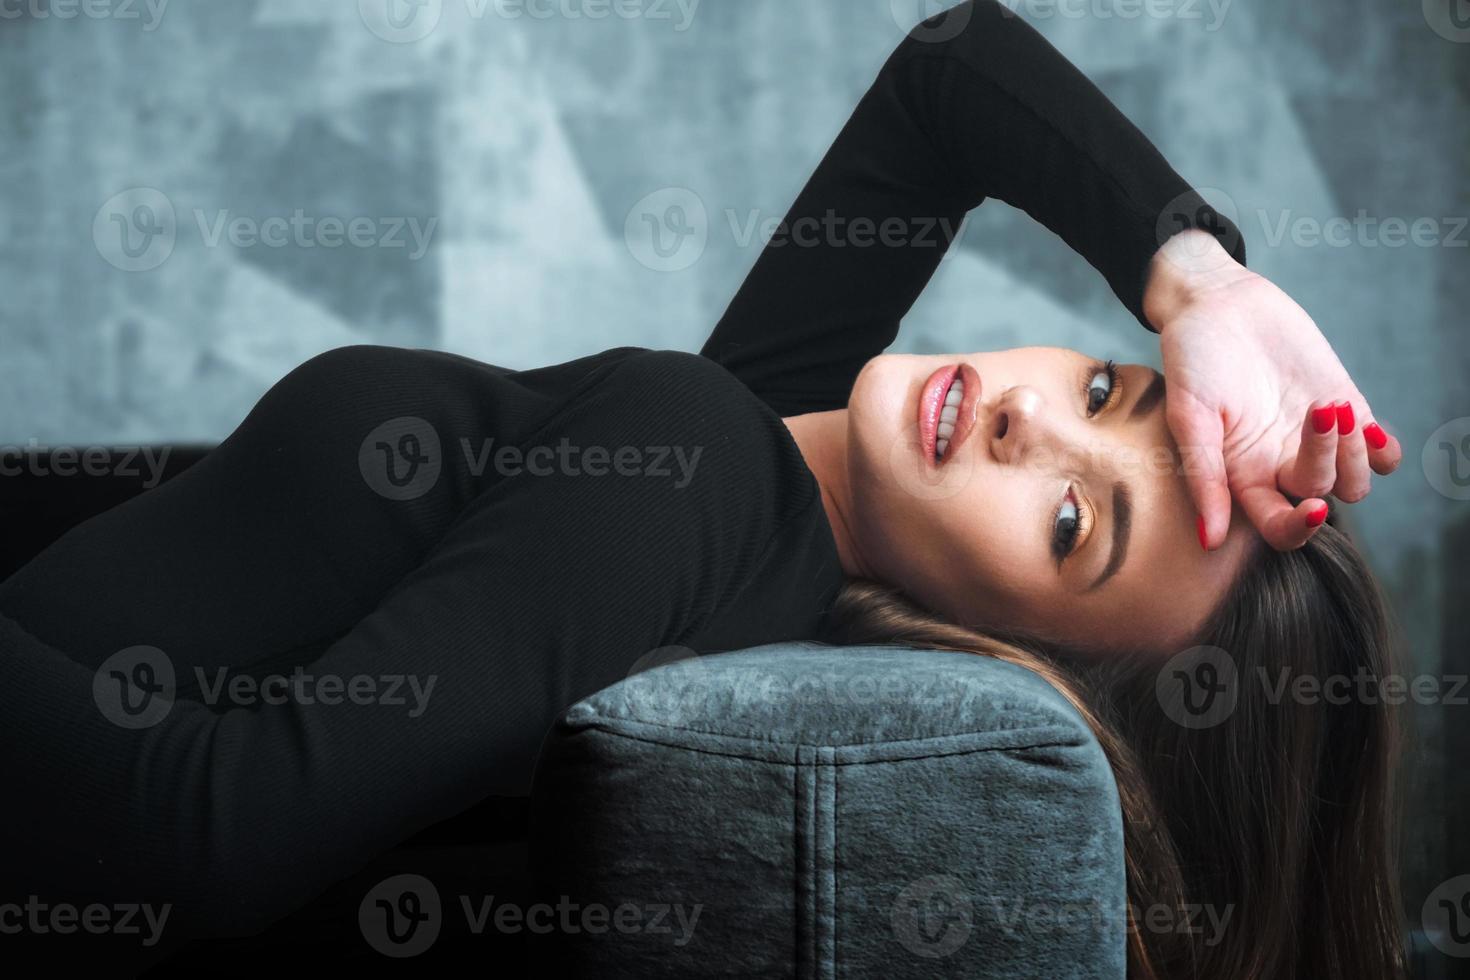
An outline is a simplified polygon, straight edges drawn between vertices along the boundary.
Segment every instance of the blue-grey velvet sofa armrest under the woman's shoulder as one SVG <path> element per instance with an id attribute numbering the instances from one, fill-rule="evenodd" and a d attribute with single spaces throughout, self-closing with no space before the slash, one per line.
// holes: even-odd
<path id="1" fill-rule="evenodd" d="M 547 735 L 529 843 L 556 976 L 1125 976 L 1102 751 L 985 657 L 782 644 L 635 673 Z"/>

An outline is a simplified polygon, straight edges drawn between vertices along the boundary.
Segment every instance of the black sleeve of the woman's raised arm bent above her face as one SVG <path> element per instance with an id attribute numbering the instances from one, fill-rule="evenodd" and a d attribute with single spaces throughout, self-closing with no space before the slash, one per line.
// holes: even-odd
<path id="1" fill-rule="evenodd" d="M 941 16 L 958 32 L 931 21 L 898 46 L 704 345 L 782 414 L 847 404 L 986 197 L 1060 235 L 1145 326 L 1169 235 L 1202 228 L 1245 262 L 1235 226 L 1025 21 L 994 0 Z"/>

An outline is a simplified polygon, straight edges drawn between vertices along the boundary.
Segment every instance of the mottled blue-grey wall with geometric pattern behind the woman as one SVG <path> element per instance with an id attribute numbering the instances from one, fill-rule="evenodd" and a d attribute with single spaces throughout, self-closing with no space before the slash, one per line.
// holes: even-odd
<path id="1" fill-rule="evenodd" d="M 936 9 L 416 1 L 406 19 L 407 0 L 0 0 L 0 442 L 213 441 L 350 342 L 509 366 L 695 350 L 759 251 L 741 229 L 782 215 L 901 26 Z M 1463 558 L 1442 530 L 1470 508 L 1470 9 L 1010 6 L 1233 210 L 1252 266 L 1402 438 L 1363 532 L 1416 663 L 1446 670 L 1439 597 Z M 704 209 L 703 251 L 628 238 L 670 201 Z M 325 247 L 326 219 L 356 219 L 359 242 Z M 1314 237 L 1333 219 L 1347 241 Z M 1419 220 L 1419 241 L 1385 219 Z M 989 204 L 900 350 L 1152 360 L 1150 341 L 1064 245 Z"/>

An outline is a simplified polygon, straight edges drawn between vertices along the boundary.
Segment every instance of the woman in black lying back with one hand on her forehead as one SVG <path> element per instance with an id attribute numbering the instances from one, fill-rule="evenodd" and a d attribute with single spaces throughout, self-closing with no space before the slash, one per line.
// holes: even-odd
<path id="1" fill-rule="evenodd" d="M 1216 946 L 1138 929 L 1135 976 L 1395 976 L 1382 708 L 1245 686 L 1191 732 L 1151 685 L 1198 644 L 1242 676 L 1389 670 L 1323 497 L 1361 498 L 1399 447 L 1101 93 L 1003 7 L 961 10 L 895 51 L 789 216 L 908 234 L 767 248 L 698 357 L 313 359 L 4 582 L 18 889 L 251 932 L 523 792 L 556 714 L 644 651 L 910 642 L 1051 679 L 1113 760 L 1130 899 L 1233 907 Z M 948 244 L 916 229 L 985 197 L 1161 332 L 1167 400 L 1072 351 L 881 356 Z M 337 701 L 303 677 L 241 702 L 278 674 Z M 394 680 L 417 701 L 376 696 Z"/>

